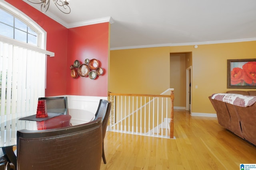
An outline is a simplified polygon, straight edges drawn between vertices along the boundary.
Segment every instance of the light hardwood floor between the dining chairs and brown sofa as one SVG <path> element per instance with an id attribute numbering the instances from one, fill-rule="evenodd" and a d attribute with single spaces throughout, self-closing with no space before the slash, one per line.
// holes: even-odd
<path id="1" fill-rule="evenodd" d="M 256 134 L 255 134 L 256 135 Z M 106 132 L 101 170 L 239 170 L 256 164 L 256 147 L 218 124 L 216 117 L 174 110 L 174 136 L 163 139 Z"/>

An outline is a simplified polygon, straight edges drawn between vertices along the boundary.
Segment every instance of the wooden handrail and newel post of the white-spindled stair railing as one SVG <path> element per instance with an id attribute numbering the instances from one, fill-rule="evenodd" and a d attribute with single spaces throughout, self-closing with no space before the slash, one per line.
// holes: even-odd
<path id="1" fill-rule="evenodd" d="M 170 116 L 170 138 L 174 138 L 174 89 L 170 95 L 155 95 L 155 94 L 129 94 L 129 93 L 112 93 L 108 92 L 108 96 L 146 96 L 146 97 L 166 97 L 171 99 L 171 116 Z"/>

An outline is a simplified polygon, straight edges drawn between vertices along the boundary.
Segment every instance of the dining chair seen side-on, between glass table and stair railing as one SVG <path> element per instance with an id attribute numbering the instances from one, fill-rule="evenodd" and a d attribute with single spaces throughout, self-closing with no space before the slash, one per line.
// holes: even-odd
<path id="1" fill-rule="evenodd" d="M 95 113 L 95 119 L 102 118 L 102 159 L 104 164 L 107 163 L 104 152 L 104 138 L 108 127 L 108 119 L 111 110 L 111 102 L 108 100 L 100 99 L 98 109 Z"/>

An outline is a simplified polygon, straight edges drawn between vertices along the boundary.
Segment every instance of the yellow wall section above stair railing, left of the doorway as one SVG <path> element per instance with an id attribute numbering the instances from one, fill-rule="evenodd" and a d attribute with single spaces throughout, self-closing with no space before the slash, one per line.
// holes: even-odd
<path id="1" fill-rule="evenodd" d="M 110 51 L 110 92 L 160 94 L 170 88 L 169 47 Z"/>

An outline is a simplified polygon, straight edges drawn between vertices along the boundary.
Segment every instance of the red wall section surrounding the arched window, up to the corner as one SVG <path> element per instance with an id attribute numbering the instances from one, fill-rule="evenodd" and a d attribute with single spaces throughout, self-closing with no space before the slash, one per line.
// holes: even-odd
<path id="1" fill-rule="evenodd" d="M 22 0 L 6 2 L 36 21 L 47 32 L 46 50 L 54 52 L 55 56 L 47 57 L 45 95 L 65 95 L 68 29 Z"/>

